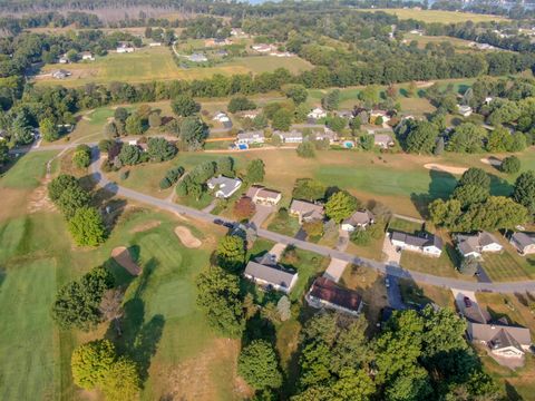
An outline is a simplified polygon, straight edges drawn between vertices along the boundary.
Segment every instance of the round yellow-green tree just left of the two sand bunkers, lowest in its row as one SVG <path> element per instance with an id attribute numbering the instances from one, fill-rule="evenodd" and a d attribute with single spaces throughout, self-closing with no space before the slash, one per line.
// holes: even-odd
<path id="1" fill-rule="evenodd" d="M 78 246 L 98 246 L 106 241 L 103 216 L 95 207 L 80 207 L 69 221 L 69 232 Z"/>

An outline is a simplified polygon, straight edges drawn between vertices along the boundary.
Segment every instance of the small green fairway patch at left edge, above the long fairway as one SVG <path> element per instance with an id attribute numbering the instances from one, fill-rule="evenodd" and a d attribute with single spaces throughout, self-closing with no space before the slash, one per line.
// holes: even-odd
<path id="1" fill-rule="evenodd" d="M 20 156 L 19 159 L 1 176 L 0 188 L 32 189 L 39 186 L 39 183 L 47 172 L 47 162 L 50 160 L 57 151 L 33 151 Z"/>

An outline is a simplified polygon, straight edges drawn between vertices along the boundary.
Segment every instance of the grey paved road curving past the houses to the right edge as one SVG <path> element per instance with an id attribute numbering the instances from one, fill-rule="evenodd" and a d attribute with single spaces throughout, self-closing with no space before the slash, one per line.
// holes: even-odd
<path id="1" fill-rule="evenodd" d="M 162 209 L 171 211 L 174 213 L 184 214 L 186 216 L 197 218 L 204 222 L 215 223 L 215 221 L 223 221 L 232 223 L 232 221 L 226 219 L 221 216 L 214 216 L 210 213 L 197 211 L 191 207 L 183 205 L 173 204 L 165 199 L 158 199 L 150 195 L 142 194 L 133 189 L 128 189 L 117 185 L 116 183 L 109 182 L 100 172 L 100 160 L 98 159 L 99 153 L 98 149 L 94 148 L 93 151 L 93 163 L 90 165 L 90 172 L 94 176 L 94 179 L 99 186 L 103 186 L 107 190 L 115 193 L 127 198 L 145 203 L 159 207 Z M 430 284 L 436 286 L 441 286 L 446 288 L 457 288 L 460 291 L 481 291 L 481 292 L 498 292 L 498 293 L 524 293 L 524 292 L 535 292 L 535 281 L 522 281 L 522 282 L 509 282 L 509 283 L 474 283 L 466 282 L 461 280 L 440 277 L 431 274 L 425 274 L 420 272 L 411 272 L 405 270 L 400 266 L 390 265 L 386 263 L 380 263 L 377 261 L 368 260 L 364 257 L 359 257 L 356 255 L 348 254 L 346 252 L 340 252 L 337 250 L 329 248 L 327 246 L 309 243 L 307 241 L 295 239 L 286 235 L 279 233 L 273 233 L 264 228 L 257 229 L 257 235 L 262 238 L 273 241 L 275 243 L 281 243 L 284 245 L 294 245 L 304 251 L 311 251 L 322 256 L 328 256 L 331 258 L 338 258 L 347 263 L 356 265 L 364 265 L 376 271 L 395 276 L 398 278 L 408 278 L 414 280 L 419 283 Z"/>

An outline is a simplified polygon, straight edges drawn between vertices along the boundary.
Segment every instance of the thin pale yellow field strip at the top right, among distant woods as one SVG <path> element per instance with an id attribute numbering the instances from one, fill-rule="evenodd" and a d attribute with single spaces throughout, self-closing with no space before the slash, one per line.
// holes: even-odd
<path id="1" fill-rule="evenodd" d="M 498 16 L 487 16 L 469 12 L 456 12 L 456 11 L 442 11 L 442 10 L 414 10 L 414 9 L 376 9 L 372 10 L 383 11 L 387 13 L 396 14 L 399 19 L 416 19 L 426 23 L 441 22 L 441 23 L 456 23 L 456 22 L 488 22 L 488 21 L 506 21 L 507 18 Z"/>

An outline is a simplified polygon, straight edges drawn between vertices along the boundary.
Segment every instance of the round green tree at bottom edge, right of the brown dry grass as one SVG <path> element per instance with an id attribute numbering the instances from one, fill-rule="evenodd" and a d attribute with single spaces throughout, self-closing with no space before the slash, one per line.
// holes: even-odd
<path id="1" fill-rule="evenodd" d="M 275 352 L 264 340 L 254 340 L 242 350 L 237 372 L 255 390 L 279 389 L 282 385 Z"/>

